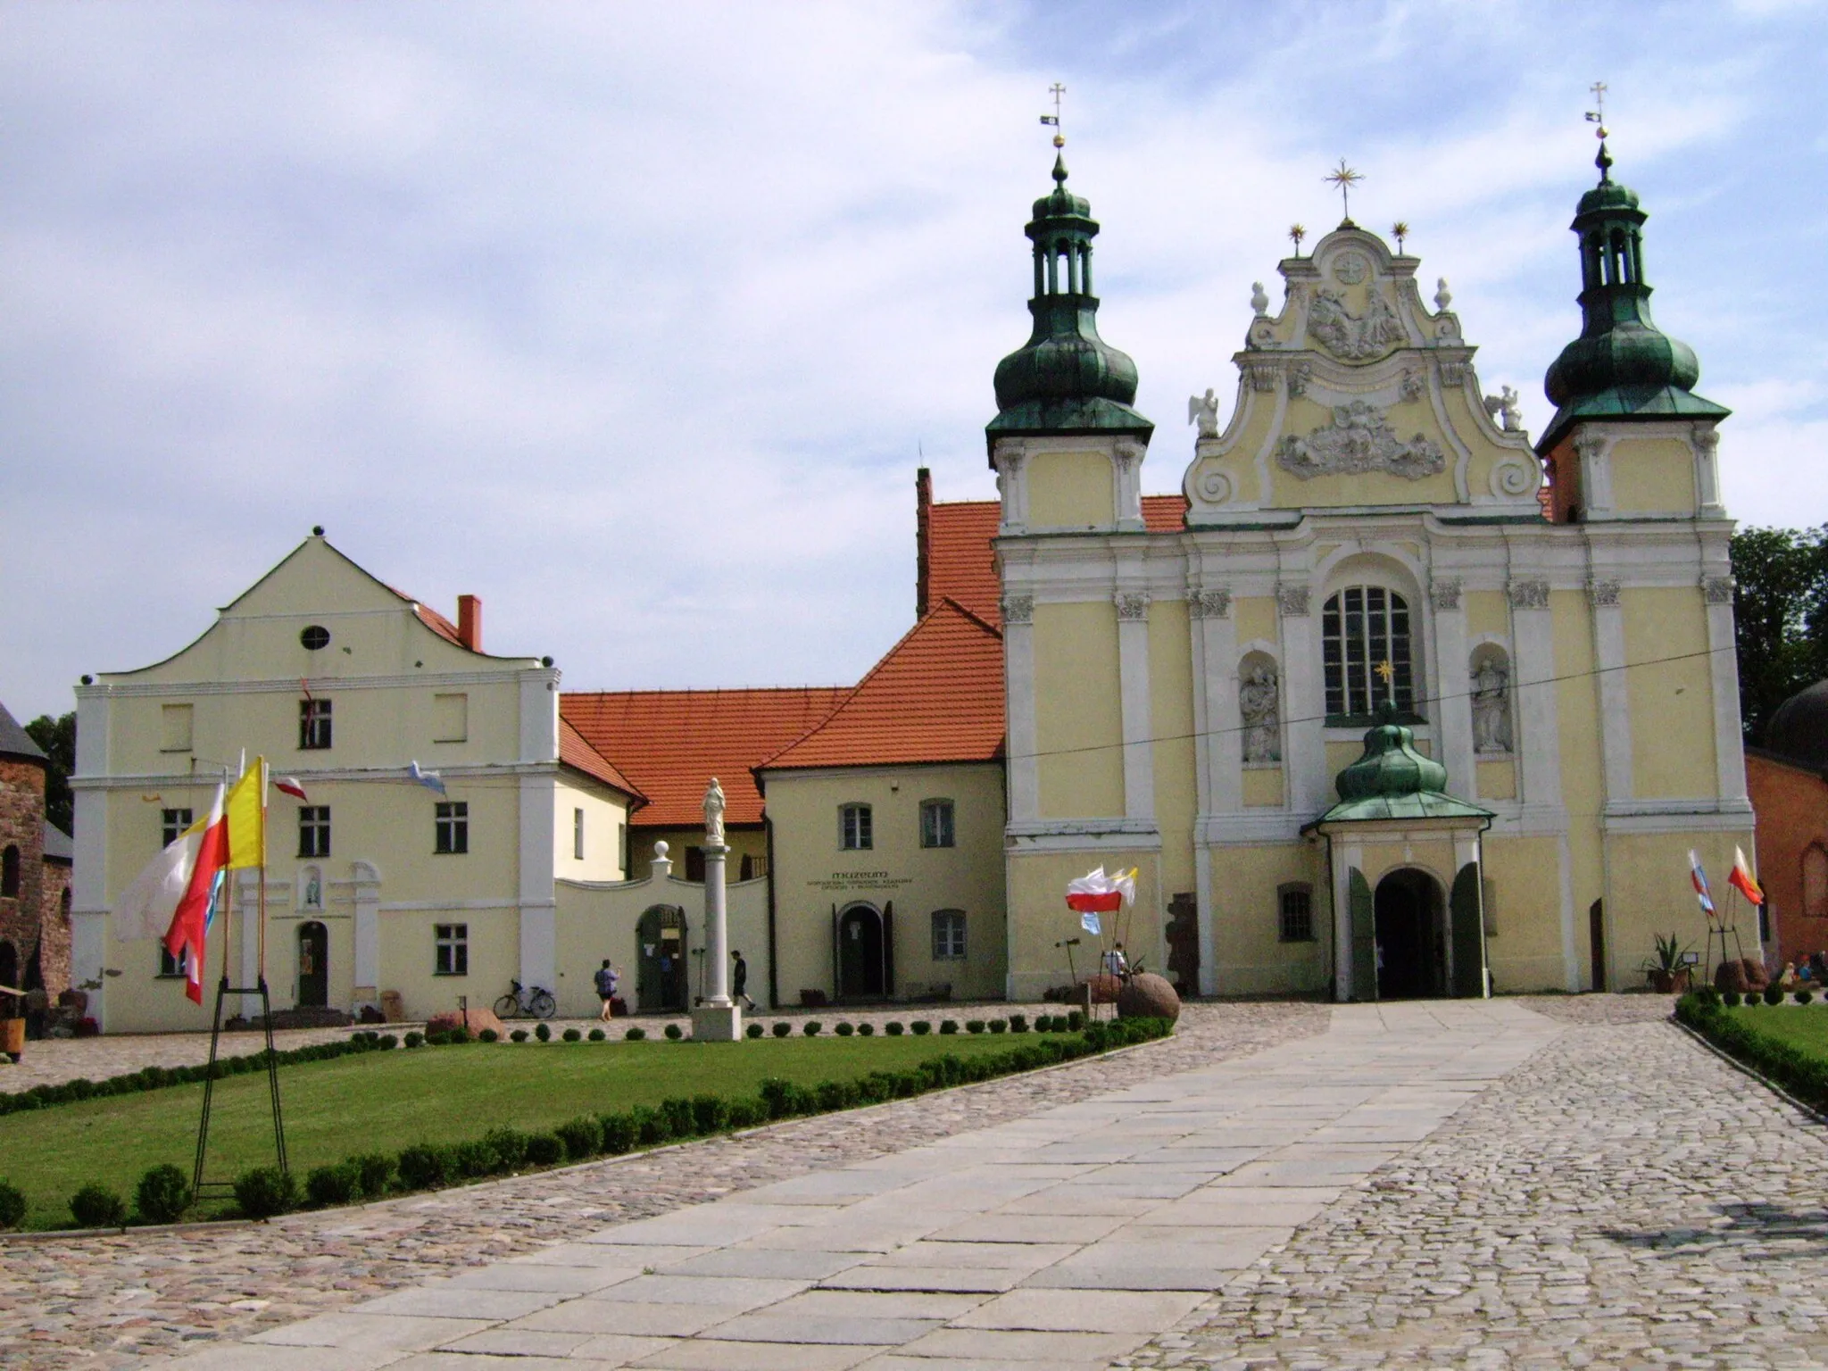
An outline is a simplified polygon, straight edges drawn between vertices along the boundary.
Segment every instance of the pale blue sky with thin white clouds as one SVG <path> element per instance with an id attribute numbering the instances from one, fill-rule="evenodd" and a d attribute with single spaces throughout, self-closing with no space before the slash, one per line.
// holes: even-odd
<path id="1" fill-rule="evenodd" d="M 170 654 L 314 523 L 567 689 L 856 680 L 912 618 L 914 468 L 994 494 L 1053 80 L 1146 490 L 1342 155 L 1541 430 L 1603 79 L 1729 508 L 1824 523 L 1824 18 L 0 0 L 0 700 Z"/>

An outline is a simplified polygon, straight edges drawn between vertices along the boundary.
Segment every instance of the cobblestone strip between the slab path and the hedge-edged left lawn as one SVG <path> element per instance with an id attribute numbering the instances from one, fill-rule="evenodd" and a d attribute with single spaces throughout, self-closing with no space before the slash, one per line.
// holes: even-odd
<path id="1" fill-rule="evenodd" d="M 960 1009 L 940 1016 L 962 1016 Z M 585 1228 L 1245 1057 L 1320 1033 L 1329 1018 L 1313 1004 L 1196 1004 L 1186 1005 L 1174 1038 L 1115 1057 L 620 1161 L 267 1225 L 5 1241 L 0 1362 L 22 1371 L 155 1362 L 203 1340 L 249 1336 Z"/>

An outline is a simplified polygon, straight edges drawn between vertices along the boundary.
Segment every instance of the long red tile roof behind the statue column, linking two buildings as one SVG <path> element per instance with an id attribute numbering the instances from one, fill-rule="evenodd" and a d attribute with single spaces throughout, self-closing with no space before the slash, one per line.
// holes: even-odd
<path id="1" fill-rule="evenodd" d="M 724 786 L 724 821 L 759 824 L 762 797 L 749 773 L 850 695 L 848 686 L 733 691 L 565 691 L 569 722 L 647 797 L 631 819 L 645 828 L 704 823 L 704 788 Z"/>

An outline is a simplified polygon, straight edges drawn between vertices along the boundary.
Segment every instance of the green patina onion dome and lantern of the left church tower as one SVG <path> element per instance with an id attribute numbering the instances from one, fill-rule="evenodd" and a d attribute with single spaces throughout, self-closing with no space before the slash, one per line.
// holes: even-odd
<path id="1" fill-rule="evenodd" d="M 1035 201 L 1026 232 L 1035 243 L 1035 318 L 1029 340 L 996 364 L 996 419 L 987 439 L 1018 433 L 1139 433 L 1155 426 L 1139 415 L 1137 364 L 1099 336 L 1091 292 L 1091 205 L 1066 188 L 1066 161 L 1055 157 L 1055 188 Z"/>

